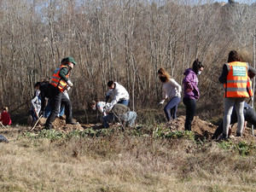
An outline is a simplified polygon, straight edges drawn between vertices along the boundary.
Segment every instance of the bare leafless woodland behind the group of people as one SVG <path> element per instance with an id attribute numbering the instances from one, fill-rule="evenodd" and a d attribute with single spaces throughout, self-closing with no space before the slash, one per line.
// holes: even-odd
<path id="1" fill-rule="evenodd" d="M 199 58 L 205 70 L 198 103 L 210 116 L 223 108 L 218 76 L 229 51 L 255 62 L 252 1 L 1 0 L 0 26 L 0 106 L 13 112 L 29 108 L 33 85 L 68 55 L 78 62 L 69 92 L 73 110 L 103 99 L 108 80 L 130 92 L 131 108 L 154 108 L 158 68 L 181 84 Z"/>

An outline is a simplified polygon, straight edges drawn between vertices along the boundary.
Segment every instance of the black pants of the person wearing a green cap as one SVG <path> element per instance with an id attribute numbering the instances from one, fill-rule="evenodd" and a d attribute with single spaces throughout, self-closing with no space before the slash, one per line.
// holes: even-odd
<path id="1" fill-rule="evenodd" d="M 46 120 L 45 127 L 51 128 L 52 122 L 54 122 L 61 105 L 65 106 L 66 122 L 72 122 L 72 105 L 70 100 L 55 86 L 50 85 L 51 98 L 50 107 L 52 108 L 49 117 Z"/>

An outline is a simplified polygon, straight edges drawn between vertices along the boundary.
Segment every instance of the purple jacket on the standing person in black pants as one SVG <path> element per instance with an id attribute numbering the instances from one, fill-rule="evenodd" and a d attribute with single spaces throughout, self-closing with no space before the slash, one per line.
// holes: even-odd
<path id="1" fill-rule="evenodd" d="M 183 79 L 184 97 L 198 100 L 200 93 L 197 86 L 198 84 L 197 75 L 191 68 L 186 69 L 184 75 L 185 75 Z"/>

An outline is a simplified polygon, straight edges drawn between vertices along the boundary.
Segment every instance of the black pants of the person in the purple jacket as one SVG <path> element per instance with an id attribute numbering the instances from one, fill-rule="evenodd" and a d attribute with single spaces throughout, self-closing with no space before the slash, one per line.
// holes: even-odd
<path id="1" fill-rule="evenodd" d="M 195 116 L 196 102 L 195 99 L 189 99 L 184 97 L 183 103 L 186 106 L 185 130 L 191 131 L 191 123 Z"/>

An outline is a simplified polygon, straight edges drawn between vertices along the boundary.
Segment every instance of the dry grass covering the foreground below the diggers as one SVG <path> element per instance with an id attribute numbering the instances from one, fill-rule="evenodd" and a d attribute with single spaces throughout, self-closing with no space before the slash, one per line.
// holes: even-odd
<path id="1" fill-rule="evenodd" d="M 32 139 L 0 143 L 1 191 L 255 191 L 255 153 L 186 139 Z"/>

